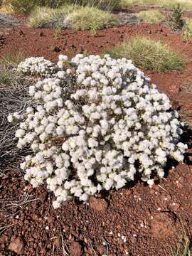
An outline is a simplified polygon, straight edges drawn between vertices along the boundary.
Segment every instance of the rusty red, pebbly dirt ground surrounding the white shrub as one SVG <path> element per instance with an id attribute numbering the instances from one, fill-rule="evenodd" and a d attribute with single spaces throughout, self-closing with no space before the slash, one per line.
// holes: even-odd
<path id="1" fill-rule="evenodd" d="M 26 57 L 45 56 L 57 61 L 60 53 L 103 53 L 135 35 L 161 39 L 186 58 L 182 73 L 147 75 L 171 97 L 173 108 L 179 110 L 183 120 L 192 124 L 191 93 L 181 91 L 181 85 L 192 81 L 192 45 L 183 43 L 180 35 L 163 25 L 109 28 L 98 31 L 95 37 L 88 31 L 66 30 L 57 40 L 51 29 L 21 26 L 1 36 L 0 56 L 21 52 Z M 184 139 L 191 146 L 190 130 Z M 0 228 L 0 255 L 61 256 L 67 255 L 65 251 L 71 256 L 171 255 L 170 248 L 175 248 L 182 238 L 182 225 L 189 236 L 192 234 L 191 153 L 189 149 L 185 163 L 176 168 L 167 166 L 167 177 L 153 188 L 134 183 L 90 198 L 87 205 L 72 201 L 59 210 L 51 206 L 53 196 L 45 187 L 32 190 L 11 164 L 4 167 L 6 176 L 0 179 L 0 227 L 7 228 Z M 35 201 L 2 211 L 8 203 L 19 201 L 26 191 L 29 200 Z"/>

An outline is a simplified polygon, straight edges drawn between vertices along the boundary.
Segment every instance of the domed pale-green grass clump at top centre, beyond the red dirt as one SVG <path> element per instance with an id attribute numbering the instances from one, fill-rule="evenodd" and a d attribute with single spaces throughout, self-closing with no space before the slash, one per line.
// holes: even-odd
<path id="1" fill-rule="evenodd" d="M 115 26 L 119 23 L 110 12 L 89 6 L 73 11 L 65 21 L 72 23 L 72 27 L 75 29 L 92 31 Z"/>

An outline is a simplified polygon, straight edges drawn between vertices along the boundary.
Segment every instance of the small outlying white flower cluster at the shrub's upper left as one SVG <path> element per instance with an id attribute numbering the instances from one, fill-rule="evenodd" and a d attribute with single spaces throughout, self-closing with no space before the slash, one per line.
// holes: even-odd
<path id="1" fill-rule="evenodd" d="M 60 55 L 58 64 L 53 64 L 50 60 L 44 57 L 31 57 L 22 61 L 18 65 L 18 72 L 29 75 L 41 75 L 50 78 L 51 75 L 56 73 L 60 68 L 63 68 L 63 63 L 68 60 L 66 55 Z"/>

